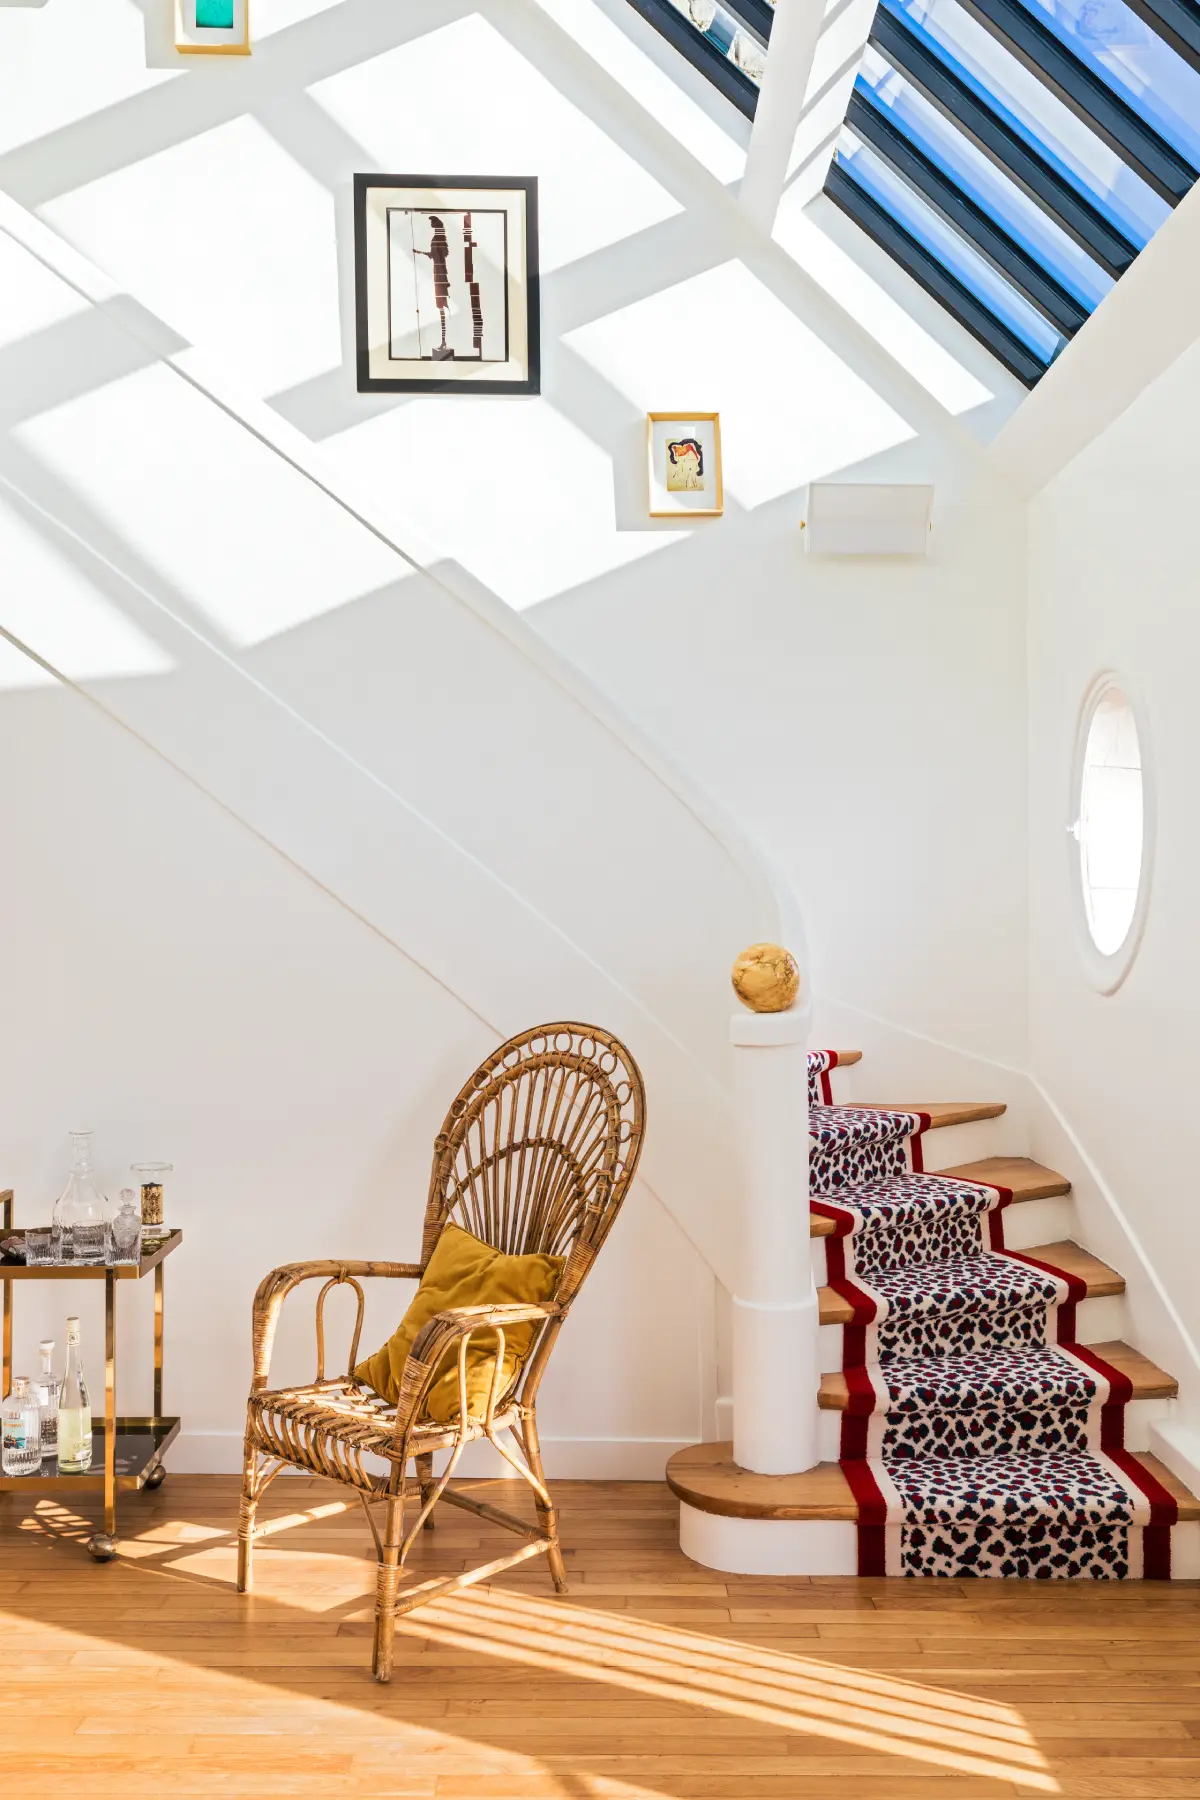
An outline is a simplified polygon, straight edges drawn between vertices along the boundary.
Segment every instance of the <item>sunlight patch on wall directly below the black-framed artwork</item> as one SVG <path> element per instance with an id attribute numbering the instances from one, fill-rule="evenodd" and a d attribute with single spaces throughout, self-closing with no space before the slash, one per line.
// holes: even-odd
<path id="1" fill-rule="evenodd" d="M 518 612 L 678 536 L 617 529 L 612 452 L 545 398 L 417 400 L 326 450 L 381 499 L 387 473 L 398 517 Z M 637 439 L 631 457 L 640 481 Z"/>

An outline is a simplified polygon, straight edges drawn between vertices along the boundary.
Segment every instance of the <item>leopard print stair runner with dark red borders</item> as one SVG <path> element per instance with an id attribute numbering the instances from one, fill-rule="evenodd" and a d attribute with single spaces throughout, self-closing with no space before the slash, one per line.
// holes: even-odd
<path id="1" fill-rule="evenodd" d="M 1177 1507 L 1124 1451 L 1130 1381 L 1076 1341 L 1085 1283 L 1004 1247 L 1006 1190 L 923 1174 L 927 1127 L 810 1109 L 860 1573 L 1169 1579 Z"/>

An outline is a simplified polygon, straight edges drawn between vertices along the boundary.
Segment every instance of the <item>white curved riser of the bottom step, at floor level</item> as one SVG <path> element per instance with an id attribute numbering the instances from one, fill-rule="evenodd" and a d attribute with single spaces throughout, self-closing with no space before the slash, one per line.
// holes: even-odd
<path id="1" fill-rule="evenodd" d="M 680 1503 L 680 1548 L 727 1575 L 856 1575 L 858 1530 L 847 1519 L 725 1519 Z M 1200 1577 L 1200 1521 L 1171 1534 L 1175 1580 Z"/>

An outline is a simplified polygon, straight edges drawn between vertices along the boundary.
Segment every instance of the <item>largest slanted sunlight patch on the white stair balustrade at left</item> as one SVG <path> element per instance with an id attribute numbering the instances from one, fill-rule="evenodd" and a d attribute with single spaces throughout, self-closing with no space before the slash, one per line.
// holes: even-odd
<path id="1" fill-rule="evenodd" d="M 142 585 L 166 580 L 232 644 L 412 574 L 164 365 L 54 407 L 13 436 L 70 490 L 67 506 L 74 495 L 115 535 Z"/>

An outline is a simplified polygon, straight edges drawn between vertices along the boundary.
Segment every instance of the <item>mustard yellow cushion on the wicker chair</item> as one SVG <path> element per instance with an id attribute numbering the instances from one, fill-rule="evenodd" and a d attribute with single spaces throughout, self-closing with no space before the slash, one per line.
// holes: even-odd
<path id="1" fill-rule="evenodd" d="M 421 1285 L 412 1305 L 399 1321 L 398 1330 L 381 1350 L 360 1363 L 354 1381 L 374 1388 L 385 1400 L 396 1404 L 399 1379 L 412 1343 L 423 1325 L 437 1312 L 450 1307 L 495 1307 L 506 1301 L 552 1300 L 558 1278 L 563 1273 L 565 1256 L 506 1256 L 504 1251 L 482 1244 L 461 1226 L 446 1226 L 439 1237 L 434 1255 L 428 1260 Z M 529 1348 L 538 1332 L 538 1325 L 513 1325 L 504 1332 L 504 1372 L 500 1375 L 500 1393 L 504 1393 L 529 1355 Z M 466 1404 L 473 1418 L 482 1418 L 488 1411 L 488 1393 L 491 1391 L 491 1373 L 497 1361 L 497 1339 L 493 1332 L 480 1330 L 466 1352 Z M 425 1417 L 439 1426 L 450 1426 L 459 1417 L 459 1346 L 441 1361 L 434 1384 L 425 1400 Z"/>

